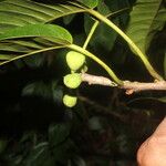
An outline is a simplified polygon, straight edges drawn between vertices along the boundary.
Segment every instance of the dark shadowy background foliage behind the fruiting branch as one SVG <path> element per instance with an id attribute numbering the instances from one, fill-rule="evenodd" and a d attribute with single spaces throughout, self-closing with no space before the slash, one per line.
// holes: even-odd
<path id="1" fill-rule="evenodd" d="M 40 1 L 41 2 L 41 1 Z M 43 1 L 54 3 L 54 1 Z M 105 0 L 110 11 L 132 8 L 135 0 Z M 104 12 L 103 4 L 97 10 Z M 112 20 L 123 30 L 129 10 Z M 74 43 L 82 45 L 93 23 L 83 13 L 58 19 Z M 148 49 L 149 60 L 164 75 L 165 28 Z M 89 50 L 96 53 L 123 79 L 151 81 L 139 60 L 114 31 L 100 24 Z M 165 116 L 165 92 L 126 95 L 123 90 L 83 83 L 77 105 L 63 106 L 69 90 L 63 75 L 70 71 L 68 50 L 49 51 L 0 68 L 0 165 L 1 166 L 134 166 L 136 151 Z M 89 72 L 106 75 L 93 61 Z M 158 100 L 155 100 L 158 98 Z"/>

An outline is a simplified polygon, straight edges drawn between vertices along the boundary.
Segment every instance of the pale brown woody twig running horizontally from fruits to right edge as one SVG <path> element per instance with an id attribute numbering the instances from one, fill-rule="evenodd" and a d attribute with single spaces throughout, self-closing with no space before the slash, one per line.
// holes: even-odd
<path id="1" fill-rule="evenodd" d="M 104 76 L 91 75 L 82 73 L 82 81 L 89 84 L 97 84 L 103 86 L 117 86 L 116 83 Z M 120 89 L 126 90 L 126 94 L 133 94 L 141 91 L 166 91 L 166 81 L 156 81 L 152 83 L 124 81 Z"/>

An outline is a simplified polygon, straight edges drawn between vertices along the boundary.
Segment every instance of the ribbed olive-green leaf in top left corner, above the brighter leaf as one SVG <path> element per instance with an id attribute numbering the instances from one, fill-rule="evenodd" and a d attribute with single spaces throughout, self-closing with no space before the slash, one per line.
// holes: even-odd
<path id="1" fill-rule="evenodd" d="M 70 1 L 49 6 L 30 0 L 4 0 L 0 2 L 0 33 L 25 24 L 51 22 L 58 18 L 85 10 L 81 4 Z"/>

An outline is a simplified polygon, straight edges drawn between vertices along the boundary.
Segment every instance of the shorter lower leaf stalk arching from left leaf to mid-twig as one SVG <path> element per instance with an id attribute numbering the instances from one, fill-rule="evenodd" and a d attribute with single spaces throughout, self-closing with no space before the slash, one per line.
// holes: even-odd
<path id="1" fill-rule="evenodd" d="M 108 73 L 108 75 L 118 84 L 118 85 L 123 85 L 123 81 L 120 80 L 115 73 L 112 71 L 112 69 L 106 65 L 102 60 L 100 60 L 97 56 L 95 56 L 94 54 L 92 54 L 91 52 L 89 52 L 87 50 L 79 46 L 79 45 L 75 45 L 75 44 L 70 44 L 70 45 L 66 45 L 68 48 L 72 49 L 72 50 L 75 50 L 89 58 L 91 58 L 92 60 L 94 60 L 96 63 L 98 63 L 101 66 L 103 66 L 103 69 L 105 69 L 105 71 Z"/>

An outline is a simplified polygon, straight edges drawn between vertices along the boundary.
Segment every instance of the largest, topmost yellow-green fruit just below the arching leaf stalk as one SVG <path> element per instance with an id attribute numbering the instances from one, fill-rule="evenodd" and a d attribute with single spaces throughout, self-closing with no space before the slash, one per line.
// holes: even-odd
<path id="1" fill-rule="evenodd" d="M 66 53 L 66 63 L 71 70 L 79 70 L 84 64 L 84 62 L 85 55 L 75 51 L 70 51 Z"/>

